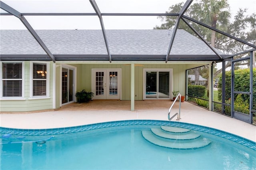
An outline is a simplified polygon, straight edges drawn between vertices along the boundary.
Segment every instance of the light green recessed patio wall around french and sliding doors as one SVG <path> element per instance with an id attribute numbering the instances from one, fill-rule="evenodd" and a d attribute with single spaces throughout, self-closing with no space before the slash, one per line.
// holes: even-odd
<path id="1" fill-rule="evenodd" d="M 130 64 L 72 64 L 77 67 L 77 91 L 85 89 L 91 91 L 92 69 L 122 69 L 122 100 L 131 99 L 131 66 Z M 143 69 L 158 68 L 158 69 L 173 69 L 173 90 L 179 90 L 182 95 L 185 95 L 185 79 L 186 65 L 185 64 L 142 64 L 143 66 L 135 66 L 135 100 L 143 99 Z"/>

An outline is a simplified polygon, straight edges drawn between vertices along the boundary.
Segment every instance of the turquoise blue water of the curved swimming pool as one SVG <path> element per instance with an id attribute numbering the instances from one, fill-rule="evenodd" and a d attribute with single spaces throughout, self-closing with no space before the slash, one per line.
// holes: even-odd
<path id="1" fill-rule="evenodd" d="M 142 136 L 142 131 L 161 126 L 189 129 L 211 143 L 197 149 L 171 149 Z M 40 130 L 1 128 L 0 148 L 1 170 L 256 169 L 255 142 L 213 128 L 169 121 L 116 121 Z"/>

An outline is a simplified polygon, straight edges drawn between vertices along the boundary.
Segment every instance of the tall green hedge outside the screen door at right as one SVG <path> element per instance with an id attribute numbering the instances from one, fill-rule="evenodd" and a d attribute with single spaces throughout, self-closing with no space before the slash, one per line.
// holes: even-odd
<path id="1" fill-rule="evenodd" d="M 239 69 L 235 70 L 235 91 L 250 91 L 250 69 Z M 222 98 L 222 76 L 218 84 L 218 99 L 221 101 Z M 256 68 L 253 69 L 253 107 L 256 108 Z M 225 88 L 225 100 L 227 101 L 231 97 L 231 71 L 226 71 L 226 88 Z M 235 94 L 235 99 L 237 94 Z M 242 95 L 244 101 L 250 101 L 249 95 Z"/>

